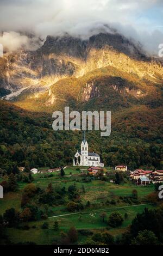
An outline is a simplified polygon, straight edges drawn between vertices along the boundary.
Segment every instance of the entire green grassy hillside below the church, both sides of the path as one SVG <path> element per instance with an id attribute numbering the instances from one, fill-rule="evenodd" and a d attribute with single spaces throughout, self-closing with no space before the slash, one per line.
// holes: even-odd
<path id="1" fill-rule="evenodd" d="M 148 207 L 150 209 L 155 207 L 155 205 L 152 204 L 146 205 L 146 196 L 147 194 L 154 191 L 153 185 L 141 187 L 135 186 L 130 182 L 124 183 L 123 185 L 116 185 L 108 181 L 101 181 L 95 179 L 92 179 L 91 182 L 84 182 L 83 176 L 81 175 L 80 171 L 76 170 L 76 168 L 73 167 L 66 168 L 65 176 L 62 178 L 60 177 L 58 172 L 53 173 L 53 176 L 49 178 L 46 176 L 46 174 L 34 174 L 33 177 L 33 183 L 41 188 L 46 188 L 47 185 L 50 182 L 52 182 L 53 187 L 65 186 L 67 189 L 68 186 L 76 182 L 78 190 L 81 191 L 80 198 L 82 200 L 82 203 L 86 204 L 86 202 L 89 200 L 91 202 L 91 208 L 83 210 L 80 213 L 76 212 L 75 214 L 70 214 L 70 212 L 66 210 L 65 205 L 49 206 L 48 216 L 53 216 L 52 218 L 48 218 L 47 220 L 41 220 L 37 222 L 29 222 L 29 230 L 22 230 L 16 228 L 7 229 L 9 239 L 14 243 L 33 241 L 40 245 L 51 244 L 55 240 L 55 238 L 60 235 L 60 231 L 67 231 L 72 226 L 75 226 L 78 230 L 96 230 L 106 228 L 107 223 L 103 223 L 99 216 L 100 212 L 102 211 L 105 211 L 107 213 L 107 218 L 112 211 L 118 211 L 122 214 L 122 216 L 124 216 L 124 214 L 127 212 L 128 218 L 124 220 L 122 227 L 109 230 L 112 235 L 122 234 L 126 230 L 126 227 L 131 223 L 137 212 L 142 212 L 145 209 L 145 207 Z M 3 214 L 6 209 L 11 207 L 14 207 L 17 210 L 21 210 L 21 194 L 24 186 L 26 186 L 27 184 L 19 182 L 18 185 L 19 190 L 17 192 L 9 192 L 4 195 L 3 200 L 0 200 L 0 214 Z M 83 186 L 85 189 L 85 193 L 82 193 Z M 139 204 L 142 205 L 129 205 L 122 202 L 121 200 L 118 200 L 120 196 L 131 196 L 131 193 L 134 188 L 136 188 L 138 193 L 138 198 L 140 201 Z M 116 205 L 105 204 L 106 200 L 111 199 L 116 200 Z M 44 207 L 44 205 L 40 205 L 40 208 L 42 210 L 45 210 Z M 59 222 L 59 231 L 54 231 L 53 229 L 55 220 Z M 43 222 L 49 223 L 48 229 L 41 228 Z M 32 228 L 33 225 L 35 225 L 36 228 Z M 82 244 L 85 240 L 86 236 L 79 235 L 80 244 Z"/>

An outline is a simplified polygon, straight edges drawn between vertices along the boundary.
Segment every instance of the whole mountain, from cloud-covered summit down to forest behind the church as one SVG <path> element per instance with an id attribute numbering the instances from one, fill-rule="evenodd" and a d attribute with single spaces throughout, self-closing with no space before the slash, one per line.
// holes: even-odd
<path id="1" fill-rule="evenodd" d="M 88 40 L 47 36 L 38 50 L 5 54 L 0 64 L 0 138 L 10 164 L 70 163 L 81 133 L 56 133 L 51 127 L 53 111 L 70 106 L 111 111 L 109 137 L 87 134 L 105 164 L 161 168 L 162 63 L 139 45 L 114 32 Z M 19 150 L 23 157 L 16 160 Z M 2 162 L 9 165 L 7 156 Z"/>

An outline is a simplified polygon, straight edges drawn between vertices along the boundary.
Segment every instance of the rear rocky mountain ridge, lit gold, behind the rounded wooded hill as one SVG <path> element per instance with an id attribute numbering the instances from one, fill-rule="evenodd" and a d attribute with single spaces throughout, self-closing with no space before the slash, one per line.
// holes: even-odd
<path id="1" fill-rule="evenodd" d="M 159 65 L 150 66 L 149 58 L 140 47 L 117 33 L 100 33 L 89 40 L 69 35 L 61 38 L 47 36 L 37 51 L 8 53 L 0 61 L 0 93 L 1 96 L 8 95 L 7 100 L 17 100 L 24 94 L 37 96 L 61 78 L 82 77 L 108 65 L 139 76 L 146 76 L 148 70 L 152 74 L 154 69 L 162 72 Z M 140 69 L 137 67 L 139 62 Z"/>

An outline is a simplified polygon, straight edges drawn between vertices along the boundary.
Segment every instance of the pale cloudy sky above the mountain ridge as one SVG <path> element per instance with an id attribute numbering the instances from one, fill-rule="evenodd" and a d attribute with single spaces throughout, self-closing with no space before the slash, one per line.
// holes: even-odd
<path id="1" fill-rule="evenodd" d="M 14 50 L 30 40 L 14 32 L 88 38 L 105 24 L 142 42 L 150 52 L 163 43 L 163 0 L 0 0 L 0 42 Z M 13 40 L 12 40 L 13 39 Z M 12 46 L 11 46 L 12 41 Z"/>

